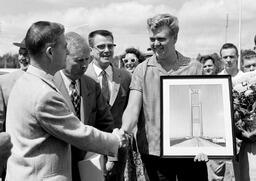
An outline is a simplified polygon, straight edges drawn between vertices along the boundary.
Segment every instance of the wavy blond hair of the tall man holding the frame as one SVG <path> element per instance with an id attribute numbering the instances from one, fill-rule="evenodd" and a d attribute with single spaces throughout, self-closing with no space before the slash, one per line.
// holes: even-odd
<path id="1" fill-rule="evenodd" d="M 147 20 L 148 29 L 155 31 L 157 28 L 167 26 L 171 36 L 177 36 L 179 32 L 178 18 L 170 14 L 157 14 Z"/>

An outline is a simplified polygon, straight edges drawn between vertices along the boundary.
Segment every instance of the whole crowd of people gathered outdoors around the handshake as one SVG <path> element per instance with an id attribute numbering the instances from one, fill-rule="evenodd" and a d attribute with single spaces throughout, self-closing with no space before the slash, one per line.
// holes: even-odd
<path id="1" fill-rule="evenodd" d="M 152 55 L 129 47 L 116 67 L 108 30 L 92 31 L 87 40 L 55 22 L 30 26 L 24 40 L 14 43 L 21 69 L 0 76 L 3 179 L 80 181 L 86 175 L 79 163 L 93 155 L 103 160 L 102 180 L 129 180 L 124 158 L 134 136 L 144 180 L 256 180 L 256 135 L 238 136 L 239 159 L 209 160 L 204 153 L 193 159 L 161 157 L 159 86 L 163 75 L 231 75 L 235 82 L 256 69 L 255 51 L 242 51 L 241 67 L 232 43 L 223 44 L 219 56 L 192 59 L 175 48 L 175 16 L 157 14 L 147 27 Z"/>

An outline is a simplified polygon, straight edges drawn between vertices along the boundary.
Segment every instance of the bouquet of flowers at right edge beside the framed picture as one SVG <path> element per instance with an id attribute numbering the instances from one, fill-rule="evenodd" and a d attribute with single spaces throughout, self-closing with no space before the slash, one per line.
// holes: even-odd
<path id="1" fill-rule="evenodd" d="M 236 127 L 240 131 L 256 130 L 256 71 L 233 82 L 233 106 Z"/>

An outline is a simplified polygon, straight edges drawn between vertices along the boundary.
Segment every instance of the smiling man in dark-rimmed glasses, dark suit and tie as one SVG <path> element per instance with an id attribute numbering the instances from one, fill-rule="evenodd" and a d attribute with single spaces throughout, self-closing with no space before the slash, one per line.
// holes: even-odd
<path id="1" fill-rule="evenodd" d="M 88 40 L 93 60 L 89 64 L 85 74 L 100 83 L 102 93 L 111 106 L 114 127 L 120 128 L 122 125 L 122 115 L 128 101 L 131 75 L 126 70 L 118 69 L 111 64 L 116 45 L 114 44 L 113 34 L 110 31 L 93 31 L 89 33 Z M 104 89 L 103 86 L 104 72 L 107 78 L 107 89 Z M 111 171 L 108 174 L 107 180 L 119 180 L 114 178 L 115 176 L 110 176 L 120 175 L 119 173 L 114 173 L 120 169 L 115 169 L 115 167 L 119 167 L 118 164 L 115 164 L 116 166 L 112 169 L 114 165 L 113 161 L 116 160 L 111 160 L 111 162 L 107 163 L 107 170 Z"/>

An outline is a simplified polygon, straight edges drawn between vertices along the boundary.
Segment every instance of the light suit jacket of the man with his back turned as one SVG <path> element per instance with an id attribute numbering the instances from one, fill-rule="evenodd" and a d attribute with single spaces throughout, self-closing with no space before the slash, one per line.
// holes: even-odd
<path id="1" fill-rule="evenodd" d="M 29 66 L 12 89 L 6 119 L 13 143 L 8 181 L 71 181 L 70 144 L 117 154 L 117 137 L 84 125 L 49 79 L 45 72 Z"/>

